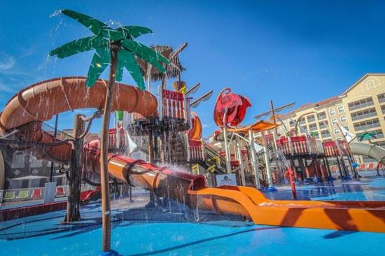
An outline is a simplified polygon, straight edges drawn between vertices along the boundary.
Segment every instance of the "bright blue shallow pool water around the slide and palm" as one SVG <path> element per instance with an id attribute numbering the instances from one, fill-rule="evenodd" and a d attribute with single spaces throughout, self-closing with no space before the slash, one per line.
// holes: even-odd
<path id="1" fill-rule="evenodd" d="M 333 188 L 331 188 L 333 187 Z M 384 200 L 385 178 L 299 186 L 300 197 Z M 290 197 L 287 186 L 268 197 Z M 134 197 L 134 201 L 140 201 Z M 385 234 L 252 225 L 239 218 L 186 208 L 124 208 L 114 202 L 112 248 L 121 255 L 382 255 Z M 64 211 L 0 222 L 1 255 L 98 255 L 99 203 L 82 221 L 61 225 Z"/>

